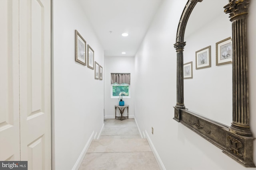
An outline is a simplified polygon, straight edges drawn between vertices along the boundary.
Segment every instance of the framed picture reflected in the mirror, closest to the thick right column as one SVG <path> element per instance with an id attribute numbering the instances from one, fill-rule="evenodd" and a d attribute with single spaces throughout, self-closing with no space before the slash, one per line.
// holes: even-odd
<path id="1" fill-rule="evenodd" d="M 216 43 L 216 66 L 232 63 L 232 39 L 228 37 Z"/>

